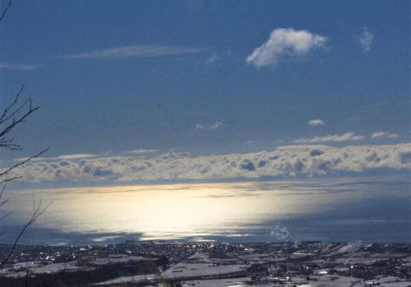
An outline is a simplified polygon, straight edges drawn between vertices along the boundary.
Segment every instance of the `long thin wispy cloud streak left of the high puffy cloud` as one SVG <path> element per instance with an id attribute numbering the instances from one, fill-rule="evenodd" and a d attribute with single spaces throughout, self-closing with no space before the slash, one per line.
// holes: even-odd
<path id="1" fill-rule="evenodd" d="M 64 57 L 71 59 L 88 59 L 88 58 L 103 58 L 103 59 L 124 59 L 131 57 L 148 58 L 160 57 L 166 55 L 184 55 L 201 53 L 207 51 L 203 48 L 187 47 L 180 45 L 162 46 L 162 45 L 130 45 L 120 46 L 110 49 L 99 49 Z"/>

